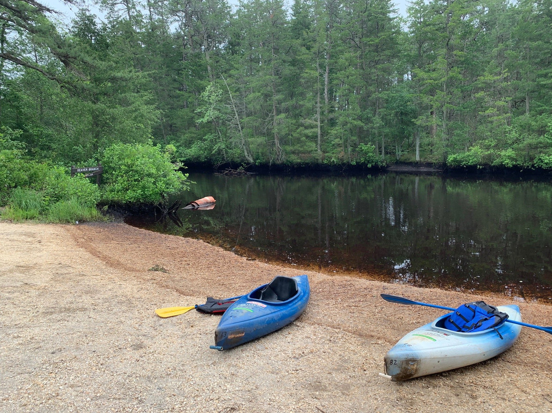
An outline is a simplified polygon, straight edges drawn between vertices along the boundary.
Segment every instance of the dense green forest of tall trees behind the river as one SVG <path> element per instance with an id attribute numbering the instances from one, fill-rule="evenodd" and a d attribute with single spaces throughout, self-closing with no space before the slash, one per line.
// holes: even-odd
<path id="1" fill-rule="evenodd" d="M 72 3 L 66 0 L 69 3 Z M 0 150 L 552 169 L 552 0 L 0 0 Z"/>

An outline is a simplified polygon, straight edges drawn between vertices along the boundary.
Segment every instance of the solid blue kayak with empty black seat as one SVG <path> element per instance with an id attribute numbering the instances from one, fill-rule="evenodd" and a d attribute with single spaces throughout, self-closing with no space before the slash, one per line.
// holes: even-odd
<path id="1" fill-rule="evenodd" d="M 309 278 L 277 276 L 233 303 L 215 331 L 215 350 L 228 350 L 281 329 L 299 317 L 310 297 Z"/>

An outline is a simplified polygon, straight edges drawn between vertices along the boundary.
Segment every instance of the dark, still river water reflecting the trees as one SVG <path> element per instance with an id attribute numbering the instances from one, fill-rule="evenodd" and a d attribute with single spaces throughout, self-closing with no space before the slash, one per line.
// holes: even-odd
<path id="1" fill-rule="evenodd" d="M 552 304 L 550 182 L 401 173 L 189 178 L 182 206 L 210 195 L 213 209 L 126 222 L 314 271 Z"/>

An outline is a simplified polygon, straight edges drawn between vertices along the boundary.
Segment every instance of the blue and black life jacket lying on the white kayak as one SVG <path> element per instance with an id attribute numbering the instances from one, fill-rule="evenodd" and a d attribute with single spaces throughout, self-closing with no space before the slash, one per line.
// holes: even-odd
<path id="1" fill-rule="evenodd" d="M 485 301 L 462 304 L 444 321 L 445 329 L 474 332 L 492 329 L 506 321 L 508 314 L 498 311 Z"/>

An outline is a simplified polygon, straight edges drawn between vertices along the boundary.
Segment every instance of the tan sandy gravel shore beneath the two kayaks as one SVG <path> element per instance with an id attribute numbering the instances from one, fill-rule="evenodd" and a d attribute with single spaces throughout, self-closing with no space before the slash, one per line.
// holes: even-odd
<path id="1" fill-rule="evenodd" d="M 125 224 L 2 222 L 0 250 L 2 412 L 552 411 L 552 336 L 527 327 L 487 362 L 401 383 L 378 376 L 389 348 L 443 314 L 380 293 L 450 307 L 506 296 L 277 267 Z M 229 351 L 209 349 L 219 316 L 154 313 L 302 273 L 305 313 Z M 552 325 L 552 306 L 516 304 L 524 321 Z"/>

